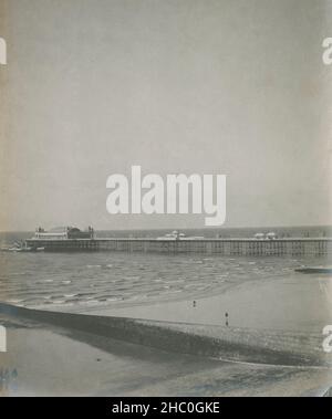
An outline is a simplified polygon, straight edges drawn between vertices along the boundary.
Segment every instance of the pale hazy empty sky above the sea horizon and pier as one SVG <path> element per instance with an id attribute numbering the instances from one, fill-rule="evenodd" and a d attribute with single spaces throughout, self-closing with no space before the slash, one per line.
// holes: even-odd
<path id="1" fill-rule="evenodd" d="M 227 175 L 225 227 L 331 224 L 325 0 L 0 0 L 0 230 L 110 214 L 106 179 Z"/>

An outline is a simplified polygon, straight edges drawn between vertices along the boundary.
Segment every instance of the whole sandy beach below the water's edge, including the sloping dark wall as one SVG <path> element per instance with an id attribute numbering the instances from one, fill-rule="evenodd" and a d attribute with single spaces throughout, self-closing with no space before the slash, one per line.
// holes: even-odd
<path id="1" fill-rule="evenodd" d="M 250 281 L 195 306 L 84 310 L 0 304 L 9 341 L 0 364 L 19 377 L 4 392 L 321 396 L 332 384 L 332 354 L 321 345 L 332 324 L 329 276 Z"/>

